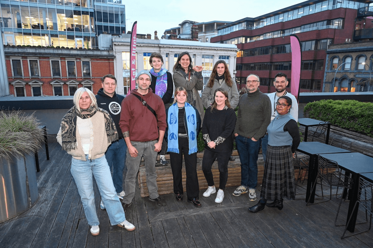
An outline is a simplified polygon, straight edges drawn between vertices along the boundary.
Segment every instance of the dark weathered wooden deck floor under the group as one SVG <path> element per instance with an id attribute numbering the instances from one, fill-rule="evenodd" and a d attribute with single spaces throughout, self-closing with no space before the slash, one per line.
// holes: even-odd
<path id="1" fill-rule="evenodd" d="M 340 239 L 344 227 L 333 223 L 338 200 L 333 196 L 332 201 L 305 206 L 305 186 L 297 188 L 297 200 L 284 200 L 283 210 L 267 207 L 255 214 L 247 207 L 256 202 L 250 202 L 248 194 L 232 196 L 235 187 L 225 190 L 220 204 L 214 203 L 216 194 L 203 197 L 200 192 L 201 208 L 187 203 L 186 196 L 176 202 L 174 194 L 163 195 L 167 206 L 160 207 L 137 192 L 126 212 L 136 227 L 133 232 L 109 225 L 106 211 L 98 207 L 96 188 L 100 235 L 92 236 L 70 174 L 71 157 L 56 141 L 50 141 L 49 148 L 49 161 L 43 148 L 39 153 L 40 197 L 30 210 L 0 223 L 0 248 L 373 247 L 372 231 Z M 348 203 L 342 203 L 342 217 L 347 207 Z M 341 218 L 340 223 L 344 222 Z"/>

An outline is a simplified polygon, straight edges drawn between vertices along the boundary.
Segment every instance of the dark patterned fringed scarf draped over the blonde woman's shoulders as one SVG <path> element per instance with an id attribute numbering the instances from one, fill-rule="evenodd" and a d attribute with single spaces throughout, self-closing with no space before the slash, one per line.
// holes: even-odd
<path id="1" fill-rule="evenodd" d="M 76 106 L 73 106 L 62 118 L 62 149 L 65 151 L 71 151 L 76 148 L 76 116 L 79 116 L 82 119 L 87 119 L 91 118 L 97 111 L 104 113 L 107 140 L 113 142 L 118 139 L 118 133 L 114 126 L 112 117 L 110 117 L 106 110 L 100 108 L 97 109 L 96 107 L 91 106 L 88 109 L 82 109 L 79 113 Z"/>

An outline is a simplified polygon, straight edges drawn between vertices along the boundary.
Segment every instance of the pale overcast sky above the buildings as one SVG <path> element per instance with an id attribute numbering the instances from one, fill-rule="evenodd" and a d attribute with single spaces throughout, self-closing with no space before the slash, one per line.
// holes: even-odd
<path id="1" fill-rule="evenodd" d="M 245 17 L 256 17 L 294 4 L 300 0 L 123 0 L 126 6 L 127 29 L 137 21 L 137 33 L 151 34 L 158 31 L 161 38 L 164 30 L 179 26 L 184 20 L 195 22 L 234 22 Z M 129 20 L 128 20 L 129 19 Z"/>

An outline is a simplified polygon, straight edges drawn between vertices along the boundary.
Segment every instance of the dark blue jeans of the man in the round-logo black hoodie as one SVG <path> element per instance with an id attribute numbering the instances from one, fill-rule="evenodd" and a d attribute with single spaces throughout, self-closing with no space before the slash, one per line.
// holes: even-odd
<path id="1" fill-rule="evenodd" d="M 126 153 L 127 145 L 124 139 L 113 142 L 107 148 L 105 157 L 110 171 L 113 171 L 113 183 L 116 193 L 123 191 L 123 177 L 126 178 Z"/>

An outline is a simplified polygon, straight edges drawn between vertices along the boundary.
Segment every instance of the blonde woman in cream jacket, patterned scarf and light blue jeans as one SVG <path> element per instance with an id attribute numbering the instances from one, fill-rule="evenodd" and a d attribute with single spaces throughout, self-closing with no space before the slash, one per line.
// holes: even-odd
<path id="1" fill-rule="evenodd" d="M 83 204 L 91 234 L 100 233 L 95 207 L 92 175 L 100 191 L 110 223 L 135 230 L 126 220 L 116 194 L 109 165 L 105 158 L 107 147 L 118 139 L 115 124 L 106 110 L 97 106 L 96 97 L 87 88 L 76 90 L 74 106 L 62 118 L 57 141 L 71 158 L 71 174 Z"/>

